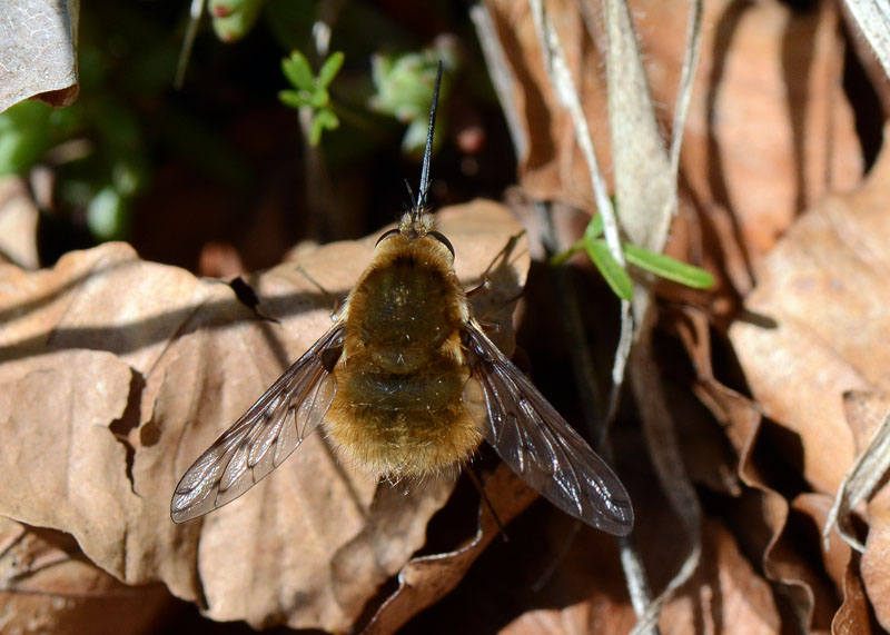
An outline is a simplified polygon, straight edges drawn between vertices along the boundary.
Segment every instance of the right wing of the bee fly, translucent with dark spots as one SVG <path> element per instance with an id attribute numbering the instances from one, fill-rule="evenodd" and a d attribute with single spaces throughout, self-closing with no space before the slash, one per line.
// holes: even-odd
<path id="1" fill-rule="evenodd" d="M 633 507 L 615 473 L 478 325 L 464 329 L 463 343 L 471 365 L 465 403 L 504 463 L 565 513 L 610 534 L 630 534 Z"/>

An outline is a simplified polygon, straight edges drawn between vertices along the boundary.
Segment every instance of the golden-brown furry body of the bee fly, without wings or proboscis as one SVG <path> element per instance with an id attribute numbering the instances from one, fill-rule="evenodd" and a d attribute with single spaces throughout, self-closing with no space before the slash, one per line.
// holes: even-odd
<path id="1" fill-rule="evenodd" d="M 429 230 L 403 220 L 349 295 L 325 419 L 353 460 L 389 478 L 439 473 L 482 441 L 462 398 L 466 296 L 448 248 Z"/>

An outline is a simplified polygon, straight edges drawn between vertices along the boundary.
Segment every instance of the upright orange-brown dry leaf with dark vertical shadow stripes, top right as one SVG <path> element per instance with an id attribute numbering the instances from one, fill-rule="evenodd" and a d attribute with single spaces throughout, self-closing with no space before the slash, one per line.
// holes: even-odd
<path id="1" fill-rule="evenodd" d="M 683 52 L 679 39 L 666 36 L 679 28 L 672 4 L 646 2 L 646 26 L 640 27 L 655 99 L 664 99 L 661 87 L 678 72 Z M 738 245 L 722 251 L 741 248 L 754 270 L 802 209 L 861 178 L 838 22 L 831 3 L 812 11 L 774 2 L 705 3 L 702 70 L 681 170 L 708 217 L 732 215 L 728 238 Z"/>

